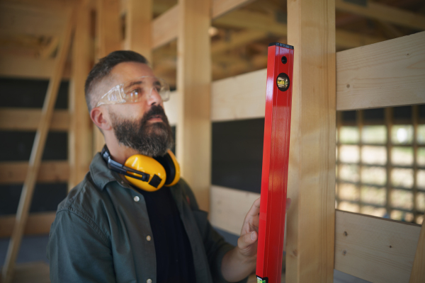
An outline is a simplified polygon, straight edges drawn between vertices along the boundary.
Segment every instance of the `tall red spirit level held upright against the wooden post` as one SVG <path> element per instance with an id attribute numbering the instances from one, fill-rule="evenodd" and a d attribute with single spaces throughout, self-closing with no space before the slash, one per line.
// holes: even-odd
<path id="1" fill-rule="evenodd" d="M 268 45 L 257 283 L 278 283 L 282 272 L 293 61 L 293 46 Z"/>

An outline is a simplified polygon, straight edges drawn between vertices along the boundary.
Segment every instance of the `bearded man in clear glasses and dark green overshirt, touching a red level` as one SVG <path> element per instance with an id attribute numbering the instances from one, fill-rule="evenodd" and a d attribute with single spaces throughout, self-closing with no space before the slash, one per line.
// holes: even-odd
<path id="1" fill-rule="evenodd" d="M 124 164 L 171 149 L 166 83 L 142 55 L 112 52 L 91 70 L 85 91 L 111 160 Z M 58 206 L 47 246 L 52 282 L 238 282 L 254 271 L 259 200 L 233 247 L 212 229 L 184 180 L 148 192 L 107 162 L 96 154 Z"/>

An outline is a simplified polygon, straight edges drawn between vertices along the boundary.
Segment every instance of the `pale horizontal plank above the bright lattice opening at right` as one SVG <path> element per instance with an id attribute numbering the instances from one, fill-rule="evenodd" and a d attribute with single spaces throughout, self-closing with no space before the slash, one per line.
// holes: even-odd
<path id="1" fill-rule="evenodd" d="M 425 32 L 336 54 L 336 110 L 425 103 Z"/>

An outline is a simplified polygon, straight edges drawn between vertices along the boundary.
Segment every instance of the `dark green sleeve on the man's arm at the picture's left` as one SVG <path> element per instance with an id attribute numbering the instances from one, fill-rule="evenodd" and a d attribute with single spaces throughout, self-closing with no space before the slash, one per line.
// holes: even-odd
<path id="1" fill-rule="evenodd" d="M 57 212 L 47 244 L 50 280 L 55 282 L 115 282 L 108 238 L 84 214 Z"/>

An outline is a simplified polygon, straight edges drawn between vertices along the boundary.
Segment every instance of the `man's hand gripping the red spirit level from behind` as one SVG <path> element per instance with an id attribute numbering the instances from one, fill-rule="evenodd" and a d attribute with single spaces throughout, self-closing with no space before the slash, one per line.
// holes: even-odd
<path id="1" fill-rule="evenodd" d="M 286 211 L 290 207 L 286 200 Z M 222 275 L 229 282 L 237 282 L 250 275 L 256 267 L 257 240 L 259 236 L 260 198 L 255 200 L 246 214 L 237 247 L 229 250 L 222 260 Z"/>

